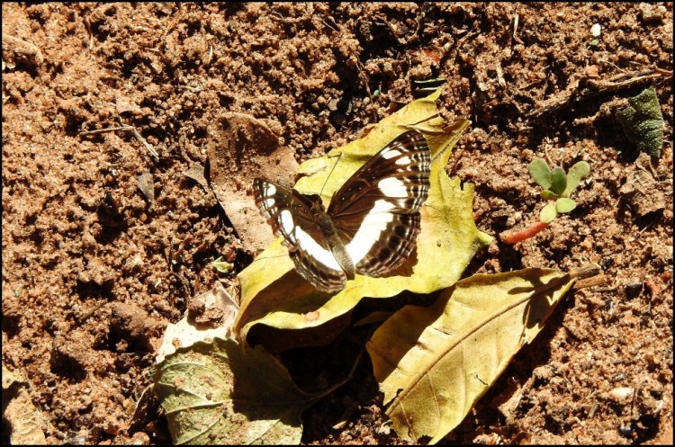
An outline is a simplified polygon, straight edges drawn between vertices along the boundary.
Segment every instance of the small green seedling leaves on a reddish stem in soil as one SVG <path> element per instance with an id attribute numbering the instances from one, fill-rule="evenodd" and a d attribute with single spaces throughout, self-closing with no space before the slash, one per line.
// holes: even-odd
<path id="1" fill-rule="evenodd" d="M 540 193 L 542 199 L 554 201 L 541 210 L 539 220 L 551 223 L 559 213 L 570 212 L 577 207 L 577 202 L 570 199 L 570 194 L 579 186 L 581 179 L 590 173 L 588 163 L 580 161 L 568 173 L 560 166 L 550 169 L 542 158 L 535 158 L 527 167 L 535 182 L 544 188 Z"/>

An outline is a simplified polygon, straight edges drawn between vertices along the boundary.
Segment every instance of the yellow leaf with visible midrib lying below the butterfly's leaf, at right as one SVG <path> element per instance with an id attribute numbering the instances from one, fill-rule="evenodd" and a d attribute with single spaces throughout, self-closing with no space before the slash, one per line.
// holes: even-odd
<path id="1" fill-rule="evenodd" d="M 401 308 L 367 344 L 401 438 L 437 443 L 532 341 L 572 286 L 545 269 L 475 275 L 428 308 Z"/>

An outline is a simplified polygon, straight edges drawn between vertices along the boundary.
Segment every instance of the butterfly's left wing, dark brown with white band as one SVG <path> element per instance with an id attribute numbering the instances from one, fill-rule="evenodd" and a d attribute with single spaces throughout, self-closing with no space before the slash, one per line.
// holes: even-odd
<path id="1" fill-rule="evenodd" d="M 295 270 L 304 279 L 329 293 L 345 288 L 347 276 L 331 253 L 312 207 L 317 197 L 303 196 L 284 186 L 254 179 L 253 196 L 276 237 L 284 237 L 284 246 L 293 259 Z"/>

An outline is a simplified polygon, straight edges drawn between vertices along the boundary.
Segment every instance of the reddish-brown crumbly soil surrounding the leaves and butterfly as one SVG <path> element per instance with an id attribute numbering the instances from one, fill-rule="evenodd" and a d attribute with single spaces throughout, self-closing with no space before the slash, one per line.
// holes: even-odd
<path id="1" fill-rule="evenodd" d="M 435 76 L 447 79 L 447 121 L 473 121 L 448 169 L 476 184 L 483 231 L 536 221 L 533 157 L 591 165 L 576 210 L 516 246 L 496 237 L 467 275 L 589 263 L 605 275 L 567 297 L 447 440 L 672 442 L 671 3 L 2 11 L 3 366 L 27 378 L 48 443 L 170 442 L 162 416 L 129 425 L 164 327 L 214 282 L 236 283 L 211 261 L 238 272 L 252 259 L 182 174 L 207 164 L 210 122 L 255 116 L 302 161 L 358 138 L 410 102 L 411 81 Z M 575 94 L 590 82 L 601 88 Z M 612 108 L 649 85 L 667 123 L 653 159 L 637 157 Z M 158 160 L 130 131 L 80 135 L 121 125 Z M 649 191 L 622 190 L 638 172 Z M 374 390 L 366 365 L 306 411 L 303 442 L 400 442 Z M 8 432 L 4 422 L 3 443 Z"/>

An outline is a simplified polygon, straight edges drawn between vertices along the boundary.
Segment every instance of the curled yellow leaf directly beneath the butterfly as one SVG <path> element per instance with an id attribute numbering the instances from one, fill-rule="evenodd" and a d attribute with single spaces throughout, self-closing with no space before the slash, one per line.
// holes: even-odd
<path id="1" fill-rule="evenodd" d="M 410 259 L 409 274 L 386 278 L 357 274 L 343 291 L 330 295 L 317 291 L 294 271 L 279 238 L 238 275 L 242 298 L 235 333 L 239 340 L 246 341 L 249 330 L 256 325 L 278 329 L 320 327 L 347 314 L 364 297 L 390 298 L 401 291 L 430 293 L 444 289 L 460 278 L 476 251 L 490 243 L 491 237 L 478 231 L 473 223 L 473 185 L 464 184 L 462 188 L 460 181 L 449 179 L 445 171 L 451 148 L 469 121 L 444 127 L 436 107 L 439 94 L 440 90 L 410 103 L 374 126 L 364 138 L 303 163 L 299 172 L 311 175 L 295 185 L 296 190 L 306 194 L 319 193 L 323 188 L 322 198 L 328 206 L 332 194 L 392 139 L 410 128 L 425 133 L 432 155 L 431 185 L 428 201 L 420 210 L 417 256 Z M 306 344 L 312 337 L 302 338 L 302 344 Z M 326 336 L 315 338 L 326 343 Z M 291 335 L 285 347 L 293 343 Z"/>

